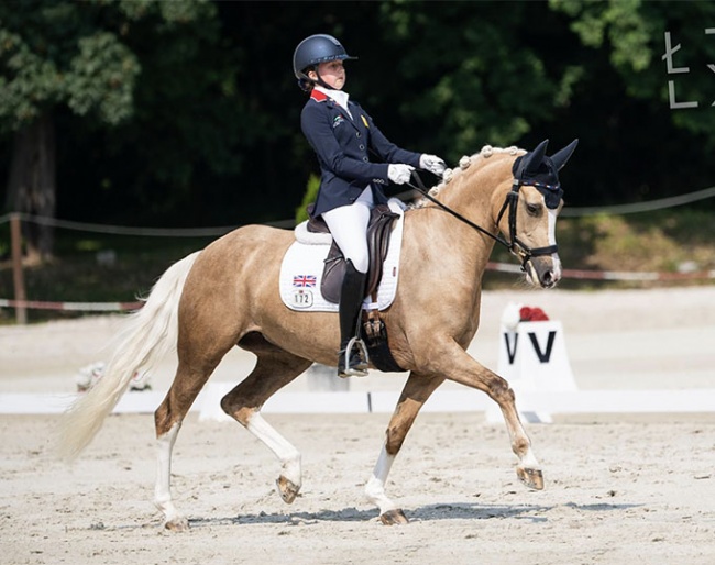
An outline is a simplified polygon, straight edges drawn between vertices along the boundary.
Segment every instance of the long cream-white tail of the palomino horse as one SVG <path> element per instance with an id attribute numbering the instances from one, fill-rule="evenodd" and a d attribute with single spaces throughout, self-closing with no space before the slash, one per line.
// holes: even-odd
<path id="1" fill-rule="evenodd" d="M 103 377 L 64 416 L 57 445 L 61 457 L 77 457 L 97 435 L 105 418 L 127 391 L 134 373 L 151 370 L 170 348 L 176 347 L 178 302 L 199 253 L 172 265 L 156 281 L 143 308 L 128 317 L 125 326 L 117 336 L 118 345 Z"/>

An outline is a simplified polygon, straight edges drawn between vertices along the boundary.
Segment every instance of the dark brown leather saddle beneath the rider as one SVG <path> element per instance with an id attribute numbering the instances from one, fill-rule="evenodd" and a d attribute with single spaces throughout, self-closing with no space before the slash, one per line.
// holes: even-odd
<path id="1" fill-rule="evenodd" d="M 387 204 L 378 204 L 373 208 L 367 225 L 367 251 L 370 265 L 367 269 L 367 284 L 365 296 L 376 297 L 377 287 L 383 277 L 383 263 L 389 248 L 389 237 L 393 233 L 393 222 L 399 214 L 393 212 Z M 330 233 L 328 224 L 322 217 L 310 218 L 308 231 L 312 233 Z M 340 289 L 345 275 L 345 258 L 333 241 L 326 258 L 326 266 L 322 273 L 320 292 L 329 302 L 340 302 Z"/>

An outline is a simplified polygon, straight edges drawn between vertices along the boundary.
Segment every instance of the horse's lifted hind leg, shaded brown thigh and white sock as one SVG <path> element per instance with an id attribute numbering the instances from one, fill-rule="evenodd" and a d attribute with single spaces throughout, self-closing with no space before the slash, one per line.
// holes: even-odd
<path id="1" fill-rule="evenodd" d="M 260 335 L 246 336 L 241 346 L 255 353 L 258 361 L 251 375 L 223 397 L 221 408 L 278 458 L 282 472 L 276 485 L 283 500 L 290 503 L 302 484 L 300 453 L 263 419 L 261 408 L 277 390 L 310 367 L 311 362 L 267 343 Z"/>

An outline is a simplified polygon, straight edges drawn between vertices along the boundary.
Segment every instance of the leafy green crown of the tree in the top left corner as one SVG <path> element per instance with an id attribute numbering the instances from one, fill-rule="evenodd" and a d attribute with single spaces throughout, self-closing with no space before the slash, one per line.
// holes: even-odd
<path id="1" fill-rule="evenodd" d="M 16 131 L 58 104 L 110 125 L 132 115 L 141 66 L 119 30 L 96 23 L 107 9 L 100 2 L 2 4 L 0 126 Z"/>

